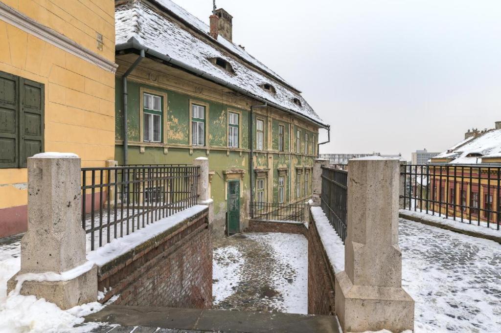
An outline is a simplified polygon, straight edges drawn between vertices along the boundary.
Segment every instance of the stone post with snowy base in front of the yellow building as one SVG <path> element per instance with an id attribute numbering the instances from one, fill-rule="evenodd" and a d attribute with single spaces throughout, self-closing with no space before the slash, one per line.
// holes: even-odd
<path id="1" fill-rule="evenodd" d="M 28 158 L 28 231 L 21 270 L 8 289 L 62 309 L 97 301 L 97 266 L 86 259 L 80 158 L 42 153 Z"/>

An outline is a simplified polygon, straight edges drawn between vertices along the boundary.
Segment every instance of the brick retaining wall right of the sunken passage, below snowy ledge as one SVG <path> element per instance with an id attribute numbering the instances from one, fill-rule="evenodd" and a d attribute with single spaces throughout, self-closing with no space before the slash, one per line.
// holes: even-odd
<path id="1" fill-rule="evenodd" d="M 308 229 L 308 313 L 334 314 L 334 269 L 327 258 L 313 216 Z"/>

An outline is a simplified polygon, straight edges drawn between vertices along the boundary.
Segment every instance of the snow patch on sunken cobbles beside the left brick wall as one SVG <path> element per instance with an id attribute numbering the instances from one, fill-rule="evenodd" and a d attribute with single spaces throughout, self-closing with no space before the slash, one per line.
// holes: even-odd
<path id="1" fill-rule="evenodd" d="M 212 296 L 213 303 L 235 292 L 235 287 L 241 279 L 241 268 L 244 260 L 240 251 L 234 246 L 214 249 L 212 259 Z"/>

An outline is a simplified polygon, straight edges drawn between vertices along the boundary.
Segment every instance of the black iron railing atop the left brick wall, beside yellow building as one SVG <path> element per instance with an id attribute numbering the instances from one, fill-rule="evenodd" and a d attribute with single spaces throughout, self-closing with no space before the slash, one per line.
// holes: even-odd
<path id="1" fill-rule="evenodd" d="M 90 249 L 197 203 L 199 167 L 82 168 L 82 227 Z"/>

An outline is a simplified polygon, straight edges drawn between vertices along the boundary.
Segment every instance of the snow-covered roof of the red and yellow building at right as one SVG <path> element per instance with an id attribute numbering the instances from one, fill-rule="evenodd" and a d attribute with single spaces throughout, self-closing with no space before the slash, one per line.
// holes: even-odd
<path id="1" fill-rule="evenodd" d="M 488 157 L 501 157 L 501 130 L 462 140 L 434 158 L 452 159 L 451 164 L 480 164 Z"/>

